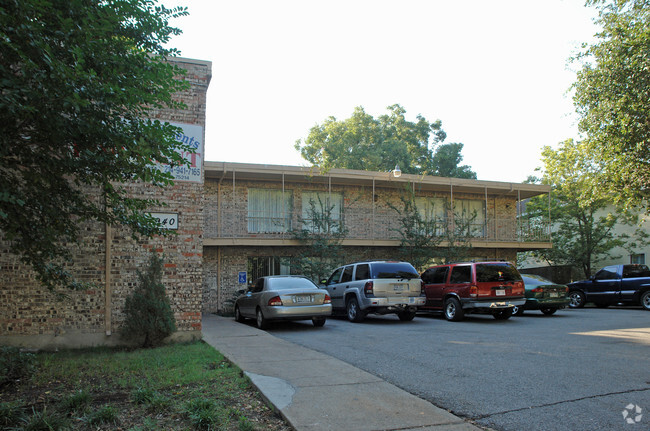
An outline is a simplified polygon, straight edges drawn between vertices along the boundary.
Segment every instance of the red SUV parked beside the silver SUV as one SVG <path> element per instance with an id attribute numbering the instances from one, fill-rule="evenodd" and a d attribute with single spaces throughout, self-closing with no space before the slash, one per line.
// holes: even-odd
<path id="1" fill-rule="evenodd" d="M 422 273 L 427 302 L 419 310 L 442 311 L 447 320 L 489 313 L 498 320 L 526 303 L 524 282 L 508 262 L 468 262 L 433 266 Z"/>

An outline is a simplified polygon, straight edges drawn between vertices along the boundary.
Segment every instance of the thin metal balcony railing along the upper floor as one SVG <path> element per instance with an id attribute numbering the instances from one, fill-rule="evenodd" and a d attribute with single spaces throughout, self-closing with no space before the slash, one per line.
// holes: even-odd
<path id="1" fill-rule="evenodd" d="M 302 229 L 301 214 L 275 214 L 268 216 L 247 210 L 222 209 L 208 213 L 206 238 L 269 238 L 290 239 L 292 229 Z M 361 211 L 347 209 L 341 215 L 341 223 L 347 229 L 346 239 L 351 240 L 400 240 L 399 214 L 394 210 Z M 444 222 L 443 222 L 444 223 Z M 447 221 L 451 223 L 451 219 Z M 548 220 L 517 220 L 489 218 L 464 224 L 467 237 L 493 242 L 550 242 Z M 443 232 L 440 222 L 438 232 Z"/>

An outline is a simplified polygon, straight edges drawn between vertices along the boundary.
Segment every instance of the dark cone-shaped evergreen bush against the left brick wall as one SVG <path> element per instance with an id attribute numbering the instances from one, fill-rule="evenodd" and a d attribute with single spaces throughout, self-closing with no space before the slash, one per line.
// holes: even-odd
<path id="1" fill-rule="evenodd" d="M 120 333 L 143 347 L 161 344 L 176 330 L 174 313 L 162 283 L 162 268 L 162 259 L 152 253 L 146 271 L 138 271 L 138 286 L 126 298 L 124 306 L 126 319 Z"/>

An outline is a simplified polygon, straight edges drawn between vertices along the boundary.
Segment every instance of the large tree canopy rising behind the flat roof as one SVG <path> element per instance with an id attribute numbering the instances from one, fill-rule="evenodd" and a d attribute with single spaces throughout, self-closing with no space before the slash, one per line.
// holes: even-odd
<path id="1" fill-rule="evenodd" d="M 357 107 L 346 120 L 329 117 L 312 127 L 295 148 L 323 169 L 385 172 L 399 165 L 409 174 L 476 178 L 469 166 L 459 166 L 463 144 L 442 144 L 447 135 L 440 120 L 429 123 L 418 115 L 412 122 L 405 113 L 400 105 L 392 105 L 388 114 L 374 118 Z"/>

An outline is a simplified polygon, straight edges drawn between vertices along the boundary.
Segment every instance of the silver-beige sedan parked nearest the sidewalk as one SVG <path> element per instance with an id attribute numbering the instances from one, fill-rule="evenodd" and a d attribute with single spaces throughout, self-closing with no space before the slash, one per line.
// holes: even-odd
<path id="1" fill-rule="evenodd" d="M 307 277 L 275 275 L 255 280 L 250 289 L 235 300 L 235 320 L 256 320 L 266 329 L 273 320 L 308 320 L 323 326 L 332 315 L 332 301 Z"/>

